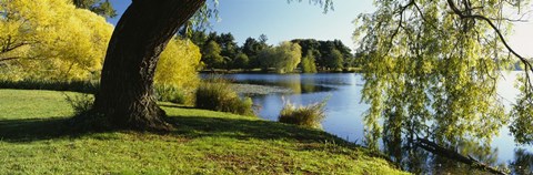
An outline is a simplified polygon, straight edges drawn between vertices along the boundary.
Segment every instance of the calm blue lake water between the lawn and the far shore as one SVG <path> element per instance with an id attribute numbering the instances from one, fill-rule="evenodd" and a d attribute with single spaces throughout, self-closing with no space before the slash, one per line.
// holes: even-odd
<path id="1" fill-rule="evenodd" d="M 513 81 L 516 73 L 509 73 L 504 82 L 500 83 L 499 94 L 507 99 L 504 104 L 511 104 L 517 90 L 513 87 Z M 259 104 L 261 110 L 259 115 L 263 119 L 276 121 L 278 114 L 283 106 L 283 100 L 290 100 L 295 104 L 310 104 L 319 102 L 330 96 L 326 109 L 326 119 L 322 123 L 323 128 L 332 134 L 343 137 L 350 142 L 363 143 L 363 119 L 362 115 L 369 107 L 361 103 L 361 90 L 364 82 L 359 74 L 339 73 L 339 74 L 230 74 L 227 75 L 237 82 L 251 84 L 266 84 L 291 89 L 291 93 L 275 93 L 269 95 L 253 96 L 254 104 Z M 400 142 L 401 143 L 401 142 Z M 382 148 L 383 146 L 381 143 Z M 401 152 L 406 152 L 401 145 Z M 464 146 L 467 147 L 467 146 Z M 516 146 L 513 136 L 509 134 L 507 127 L 501 128 L 500 135 L 495 137 L 492 145 L 484 147 L 484 152 L 475 148 L 466 152 L 475 153 L 477 159 L 491 164 L 492 166 L 505 166 L 513 169 L 516 174 L 531 173 L 533 171 L 533 146 Z M 471 169 L 463 168 L 464 165 L 450 163 L 445 158 L 431 155 L 423 151 L 416 153 L 393 153 L 391 148 L 383 148 L 385 154 L 391 155 L 393 159 L 415 173 L 472 173 Z M 480 152 L 480 153 L 477 153 Z M 400 158 L 394 158 L 394 156 Z M 411 155 L 411 157 L 410 157 Z M 414 159 L 413 159 L 414 158 Z M 420 161 L 422 159 L 422 161 Z M 418 165 L 415 162 L 422 162 Z"/>

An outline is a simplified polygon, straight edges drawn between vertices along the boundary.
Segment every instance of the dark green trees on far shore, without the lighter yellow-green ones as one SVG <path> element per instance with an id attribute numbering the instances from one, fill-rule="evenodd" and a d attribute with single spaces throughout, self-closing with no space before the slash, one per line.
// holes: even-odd
<path id="1" fill-rule="evenodd" d="M 231 33 L 218 34 L 211 32 L 207 35 L 204 31 L 193 31 L 190 38 L 198 45 L 202 45 L 202 61 L 208 69 L 261 68 L 263 70 L 274 69 L 278 73 L 293 71 L 293 68 L 289 66 L 291 65 L 289 62 L 281 63 L 283 59 L 275 58 L 275 54 L 288 51 L 282 51 L 281 47 L 278 47 L 279 49 L 271 48 L 266 43 L 268 38 L 264 34 L 260 35 L 259 39 L 248 38 L 241 48 L 237 45 Z M 320 66 L 322 70 L 335 71 L 353 66 L 351 50 L 340 40 L 316 41 L 313 39 L 296 39 L 291 42 L 301 45 L 301 58 L 308 56 L 308 53 L 313 54 L 314 65 L 310 66 Z M 243 58 L 241 58 L 240 53 L 247 54 L 248 64 L 242 64 Z M 283 69 L 289 69 L 289 71 Z"/>

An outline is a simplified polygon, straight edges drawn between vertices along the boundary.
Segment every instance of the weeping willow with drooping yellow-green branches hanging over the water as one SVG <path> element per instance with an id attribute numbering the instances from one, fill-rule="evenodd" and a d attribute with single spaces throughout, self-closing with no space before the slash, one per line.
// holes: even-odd
<path id="1" fill-rule="evenodd" d="M 369 143 L 381 134 L 430 137 L 456 145 L 489 144 L 509 115 L 496 95 L 501 71 L 530 62 L 509 47 L 505 10 L 526 7 L 504 0 L 375 0 L 376 11 L 359 16 L 354 39 L 364 54 L 363 101 Z M 531 131 L 530 79 L 522 80 L 515 119 Z M 385 123 L 385 127 L 380 125 Z M 516 134 L 516 132 L 515 132 Z M 531 138 L 531 136 L 530 136 Z M 519 140 L 520 141 L 520 140 Z M 523 142 L 527 143 L 527 142 Z M 530 140 L 531 143 L 531 140 Z"/>

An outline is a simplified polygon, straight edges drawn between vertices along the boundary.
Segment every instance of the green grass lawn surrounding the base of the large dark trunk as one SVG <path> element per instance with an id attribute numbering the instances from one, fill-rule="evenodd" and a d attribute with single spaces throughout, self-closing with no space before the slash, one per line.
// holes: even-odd
<path id="1" fill-rule="evenodd" d="M 163 104 L 164 134 L 69 134 L 61 92 L 0 90 L 0 174 L 402 174 L 318 130 Z"/>

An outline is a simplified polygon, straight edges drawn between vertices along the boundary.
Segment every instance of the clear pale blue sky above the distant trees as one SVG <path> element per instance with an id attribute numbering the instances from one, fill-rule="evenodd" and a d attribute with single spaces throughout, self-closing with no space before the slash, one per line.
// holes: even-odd
<path id="1" fill-rule="evenodd" d="M 210 1 L 210 0 L 208 0 Z M 339 39 L 354 49 L 352 21 L 360 13 L 373 11 L 371 0 L 334 0 L 334 10 L 322 13 L 322 8 L 308 0 L 288 3 L 286 0 L 219 0 L 220 21 L 213 22 L 217 32 L 231 32 L 239 44 L 249 37 L 266 34 L 269 43 L 292 39 Z M 298 1 L 298 0 L 296 0 Z M 131 0 L 111 0 L 119 17 Z M 109 19 L 117 23 L 119 17 Z M 530 19 L 533 20 L 533 19 Z M 510 43 L 519 53 L 533 56 L 533 22 L 517 23 Z"/>

